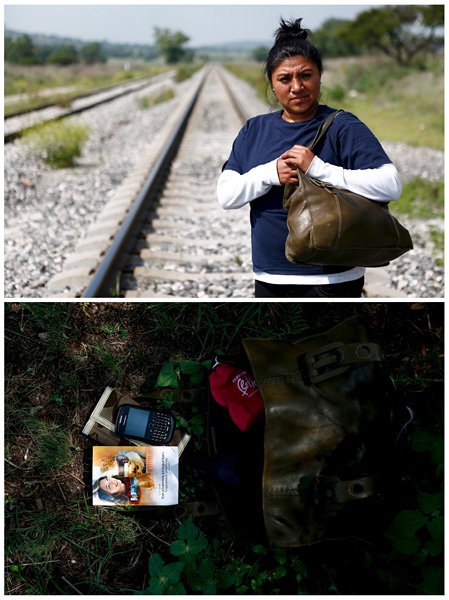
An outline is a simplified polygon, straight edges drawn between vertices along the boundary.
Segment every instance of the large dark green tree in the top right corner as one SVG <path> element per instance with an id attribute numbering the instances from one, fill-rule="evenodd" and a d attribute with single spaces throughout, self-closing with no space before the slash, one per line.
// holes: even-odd
<path id="1" fill-rule="evenodd" d="M 423 53 L 441 44 L 444 6 L 388 6 L 374 8 L 348 23 L 342 40 L 380 50 L 400 65 L 410 65 Z"/>

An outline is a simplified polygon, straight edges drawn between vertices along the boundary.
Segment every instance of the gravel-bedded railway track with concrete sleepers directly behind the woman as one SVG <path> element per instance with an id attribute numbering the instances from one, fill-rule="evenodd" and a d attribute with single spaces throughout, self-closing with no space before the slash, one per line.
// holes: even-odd
<path id="1" fill-rule="evenodd" d="M 128 197 L 134 188 L 132 205 L 124 211 L 117 200 L 115 211 L 105 207 L 109 223 L 100 215 L 49 282 L 50 296 L 252 296 L 249 210 L 224 212 L 216 200 L 218 174 L 250 109 L 221 67 L 194 80 L 153 156 L 137 166 L 134 183 L 122 186 Z M 101 236 L 108 247 L 100 250 Z"/>

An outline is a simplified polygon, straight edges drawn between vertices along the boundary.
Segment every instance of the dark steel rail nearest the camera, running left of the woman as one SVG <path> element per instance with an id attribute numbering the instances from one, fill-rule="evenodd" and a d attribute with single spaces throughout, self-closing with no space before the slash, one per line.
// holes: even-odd
<path id="1" fill-rule="evenodd" d="M 113 291 L 118 283 L 116 281 L 117 273 L 119 273 L 123 267 L 127 252 L 132 249 L 134 241 L 140 232 L 144 215 L 150 211 L 148 200 L 155 195 L 160 186 L 160 182 L 164 177 L 166 168 L 172 162 L 179 148 L 189 117 L 195 107 L 208 75 L 209 71 L 203 75 L 196 92 L 193 94 L 191 101 L 185 108 L 177 126 L 170 134 L 167 143 L 162 149 L 150 175 L 136 198 L 135 203 L 115 236 L 109 250 L 106 252 L 92 281 L 82 295 L 83 298 L 104 298 L 114 295 Z"/>

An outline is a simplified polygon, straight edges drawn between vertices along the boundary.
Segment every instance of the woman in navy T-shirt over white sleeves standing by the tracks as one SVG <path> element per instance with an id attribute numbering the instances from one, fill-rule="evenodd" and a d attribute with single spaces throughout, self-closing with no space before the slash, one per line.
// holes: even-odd
<path id="1" fill-rule="evenodd" d="M 281 20 L 265 65 L 282 109 L 250 119 L 240 131 L 218 180 L 218 201 L 223 209 L 250 203 L 256 298 L 356 298 L 363 290 L 363 267 L 293 264 L 286 259 L 283 186 L 298 183 L 301 169 L 387 202 L 399 198 L 401 183 L 376 137 L 351 113 L 335 118 L 319 156 L 307 147 L 335 109 L 319 103 L 322 60 L 301 21 Z"/>

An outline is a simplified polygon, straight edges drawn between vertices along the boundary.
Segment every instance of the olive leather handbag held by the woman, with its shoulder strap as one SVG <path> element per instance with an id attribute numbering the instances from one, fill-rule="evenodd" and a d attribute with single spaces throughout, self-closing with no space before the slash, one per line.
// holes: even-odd
<path id="1" fill-rule="evenodd" d="M 321 124 L 311 150 L 339 112 Z M 298 185 L 287 184 L 284 190 L 289 229 L 285 255 L 290 262 L 378 267 L 413 248 L 410 233 L 391 214 L 388 202 L 334 187 L 300 169 L 298 180 Z"/>

